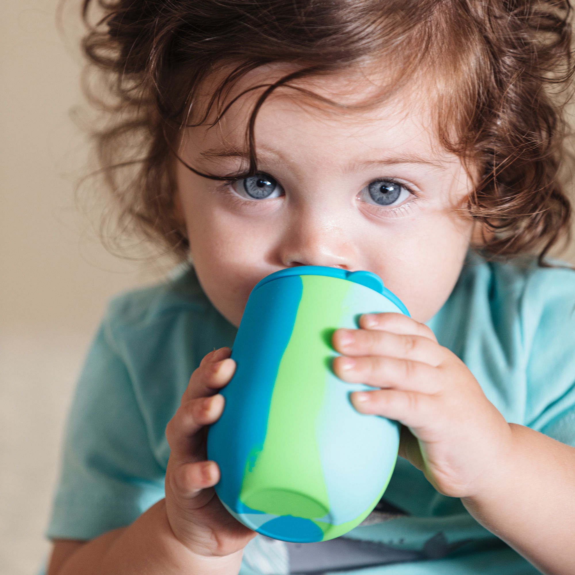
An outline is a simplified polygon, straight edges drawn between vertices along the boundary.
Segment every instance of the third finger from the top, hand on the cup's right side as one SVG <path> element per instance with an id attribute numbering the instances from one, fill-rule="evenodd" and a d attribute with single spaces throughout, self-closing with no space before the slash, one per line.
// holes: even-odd
<path id="1" fill-rule="evenodd" d="M 333 372 L 350 384 L 366 384 L 375 388 L 427 394 L 438 393 L 443 388 L 435 367 L 409 359 L 340 355 L 333 359 Z"/>

